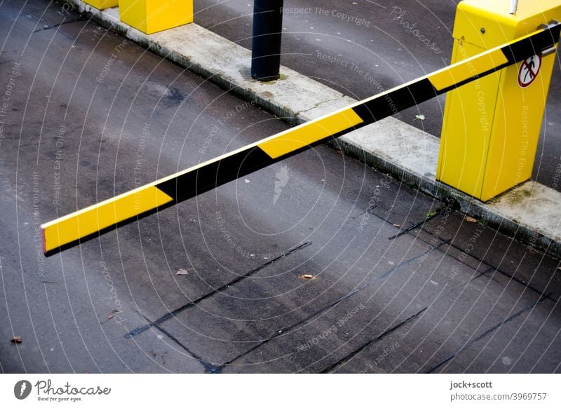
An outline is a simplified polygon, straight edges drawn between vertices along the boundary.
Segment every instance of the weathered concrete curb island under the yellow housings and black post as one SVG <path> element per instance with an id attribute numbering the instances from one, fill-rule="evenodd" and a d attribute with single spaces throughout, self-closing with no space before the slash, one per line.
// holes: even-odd
<path id="1" fill-rule="evenodd" d="M 100 25 L 245 100 L 254 101 L 292 125 L 356 102 L 286 67 L 281 67 L 278 81 L 255 81 L 250 76 L 250 50 L 195 23 L 147 35 L 121 22 L 118 8 L 99 11 L 81 0 L 65 1 L 79 12 L 91 15 Z M 529 248 L 561 257 L 561 193 L 537 182 L 527 182 L 481 203 L 437 182 L 440 140 L 396 118 L 386 118 L 344 135 L 337 144 L 347 154 L 430 196 L 454 198 L 462 212 L 527 243 Z"/>

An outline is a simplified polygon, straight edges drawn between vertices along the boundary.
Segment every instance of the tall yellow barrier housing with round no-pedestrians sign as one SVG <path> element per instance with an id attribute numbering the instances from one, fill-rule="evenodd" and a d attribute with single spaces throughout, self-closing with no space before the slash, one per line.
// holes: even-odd
<path id="1" fill-rule="evenodd" d="M 464 0 L 452 63 L 561 20 L 559 0 Z M 532 176 L 555 48 L 447 94 L 436 178 L 487 201 Z M 474 71 L 475 71 L 475 67 Z"/>

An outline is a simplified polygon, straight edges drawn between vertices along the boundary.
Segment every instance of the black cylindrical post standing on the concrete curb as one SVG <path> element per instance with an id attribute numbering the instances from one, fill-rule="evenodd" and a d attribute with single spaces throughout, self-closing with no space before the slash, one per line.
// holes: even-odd
<path id="1" fill-rule="evenodd" d="M 283 0 L 254 0 L 251 76 L 259 81 L 280 77 Z"/>

